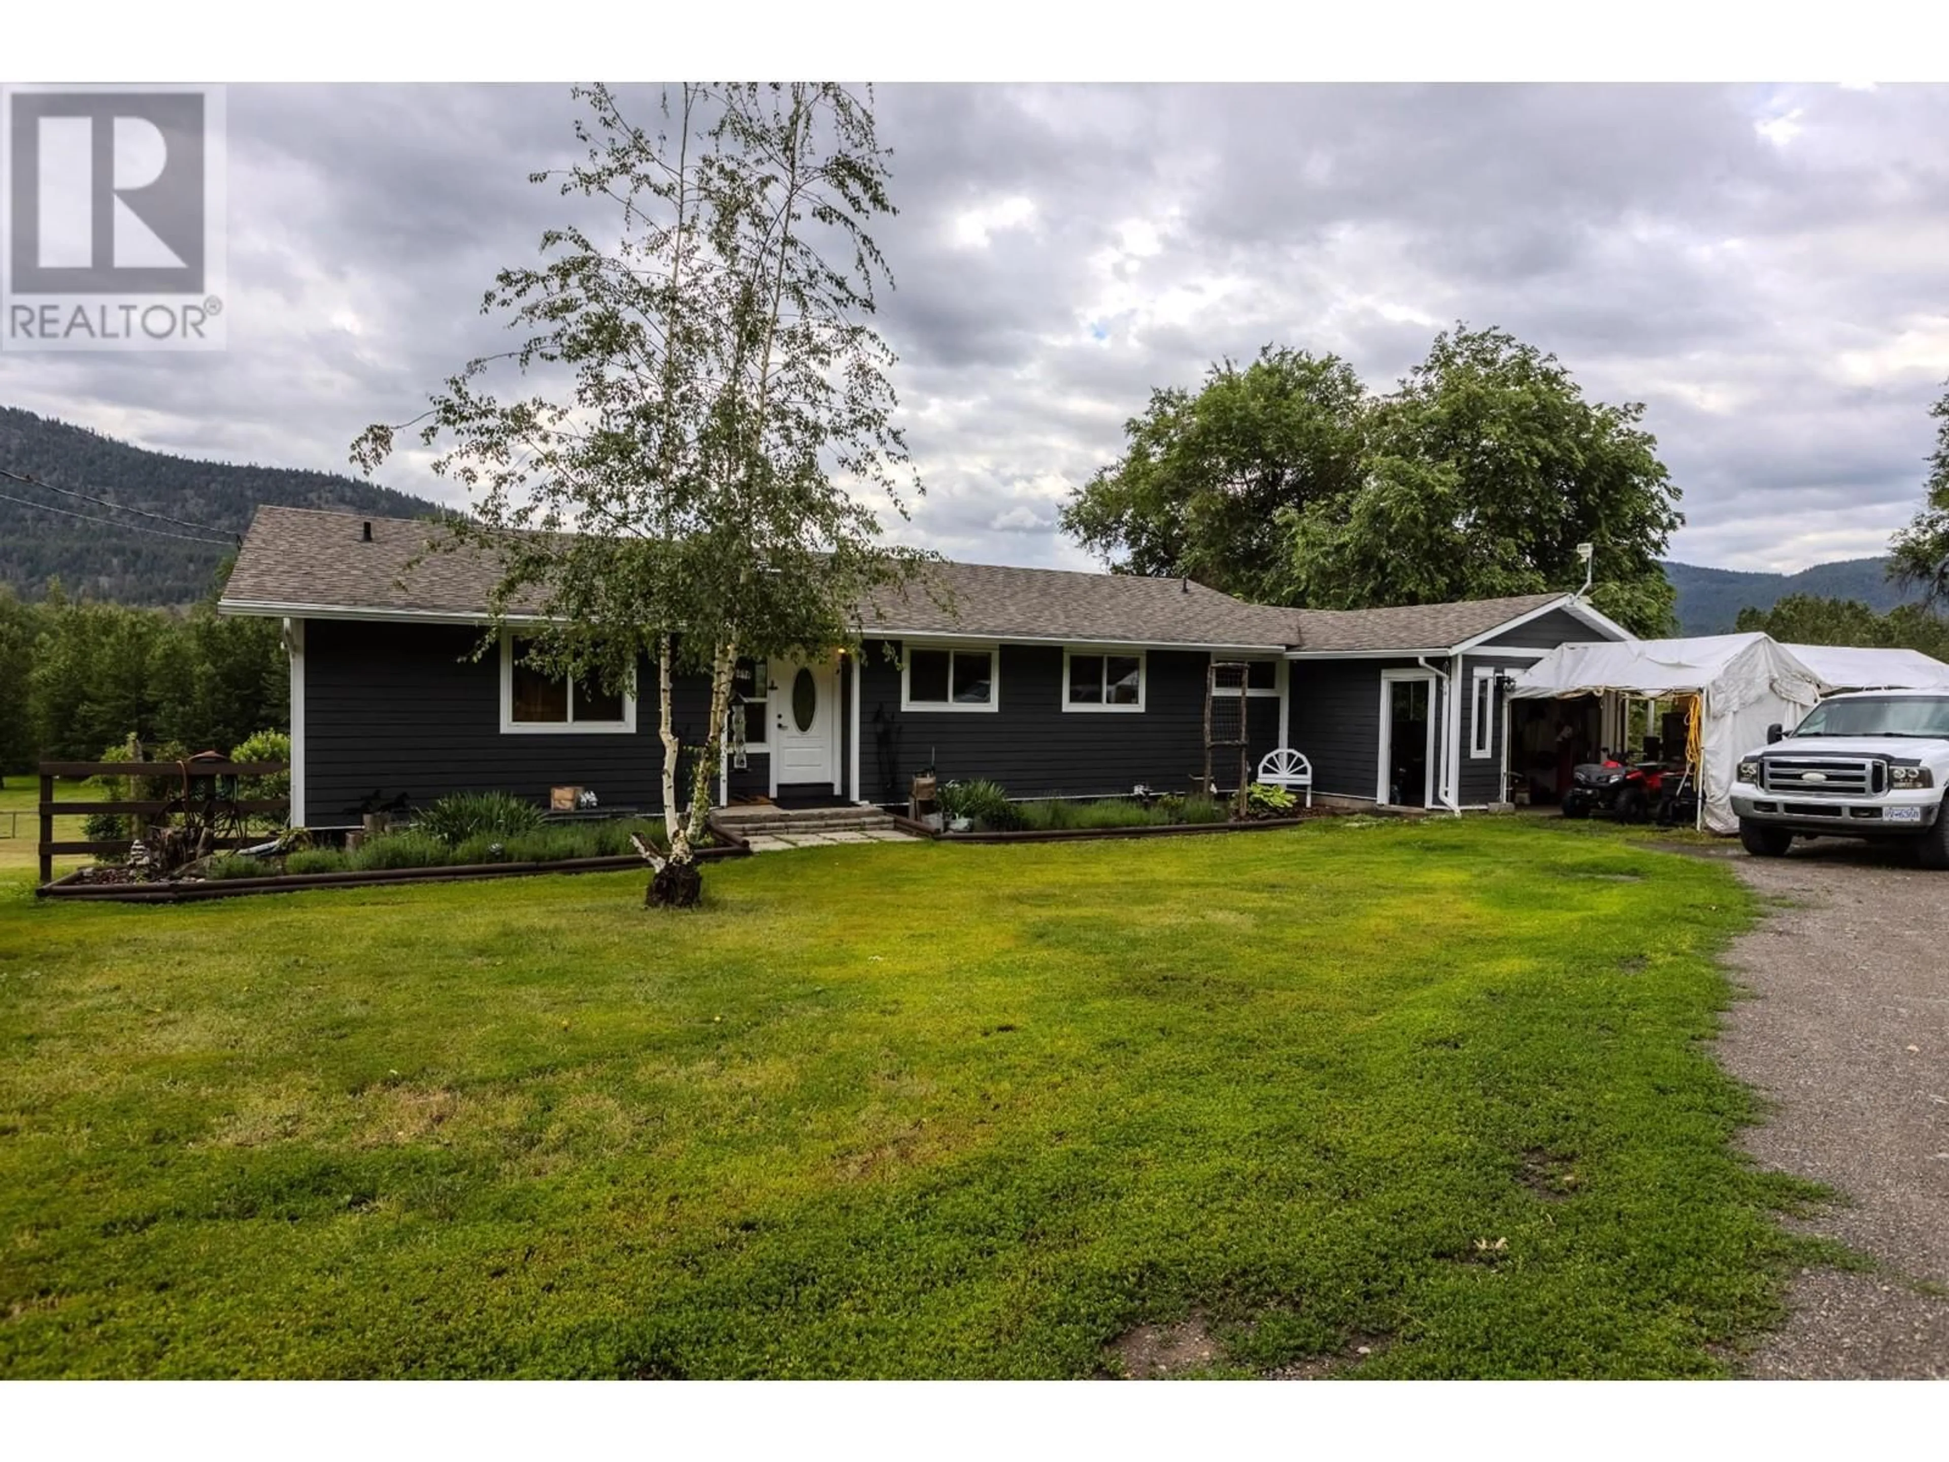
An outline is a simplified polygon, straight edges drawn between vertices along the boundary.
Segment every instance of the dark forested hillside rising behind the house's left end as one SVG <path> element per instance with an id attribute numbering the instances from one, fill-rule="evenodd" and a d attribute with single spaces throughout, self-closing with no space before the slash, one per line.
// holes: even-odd
<path id="1" fill-rule="evenodd" d="M 68 596 L 193 604 L 210 595 L 216 569 L 236 552 L 259 503 L 401 519 L 435 511 L 421 497 L 331 472 L 148 452 L 14 407 L 0 407 L 0 468 L 47 483 L 0 476 L 0 585 L 21 598 L 41 598 L 58 579 Z M 117 509 L 144 509 L 175 522 Z"/>

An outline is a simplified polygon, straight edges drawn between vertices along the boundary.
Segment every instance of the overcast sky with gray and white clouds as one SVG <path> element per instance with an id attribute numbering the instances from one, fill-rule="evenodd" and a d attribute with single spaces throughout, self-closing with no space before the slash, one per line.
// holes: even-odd
<path id="1" fill-rule="evenodd" d="M 645 94 L 643 105 L 651 97 Z M 1793 569 L 1914 511 L 1949 376 L 1949 90 L 879 88 L 900 536 L 1082 565 L 1064 493 L 1152 386 L 1265 343 L 1386 388 L 1503 326 L 1643 400 L 1674 556 Z M 0 402 L 144 446 L 347 468 L 503 339 L 561 203 L 563 88 L 230 88 L 226 355 L 0 359 Z M 390 485 L 442 497 L 413 460 Z"/>

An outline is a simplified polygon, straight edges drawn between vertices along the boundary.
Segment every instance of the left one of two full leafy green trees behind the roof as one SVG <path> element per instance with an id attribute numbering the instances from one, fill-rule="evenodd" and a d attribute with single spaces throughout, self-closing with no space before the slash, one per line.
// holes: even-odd
<path id="1" fill-rule="evenodd" d="M 1335 355 L 1273 349 L 1214 365 L 1199 392 L 1162 388 L 1125 425 L 1127 450 L 1062 507 L 1062 528 L 1119 573 L 1191 577 L 1275 600 L 1282 511 L 1360 480 L 1370 404 Z"/>

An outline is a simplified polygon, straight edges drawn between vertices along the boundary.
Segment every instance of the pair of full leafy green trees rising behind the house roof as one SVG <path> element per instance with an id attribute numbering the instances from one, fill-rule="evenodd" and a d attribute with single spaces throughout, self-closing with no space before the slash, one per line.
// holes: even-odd
<path id="1" fill-rule="evenodd" d="M 1641 419 L 1501 329 L 1438 335 L 1384 398 L 1343 361 L 1267 349 L 1154 392 L 1062 526 L 1127 573 L 1312 608 L 1571 591 L 1588 542 L 1592 602 L 1662 634 L 1684 519 Z"/>

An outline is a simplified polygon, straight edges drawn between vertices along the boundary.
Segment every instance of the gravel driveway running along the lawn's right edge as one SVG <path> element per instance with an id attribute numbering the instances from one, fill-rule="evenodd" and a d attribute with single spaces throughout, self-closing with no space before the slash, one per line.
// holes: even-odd
<path id="1" fill-rule="evenodd" d="M 1754 1000 L 1729 1012 L 1727 1068 L 1776 1103 L 1746 1148 L 1848 1197 L 1805 1228 L 1883 1273 L 1807 1271 L 1754 1376 L 1949 1378 L 1949 873 L 1898 848 L 1818 840 L 1731 858 L 1776 903 L 1731 949 Z"/>

